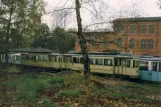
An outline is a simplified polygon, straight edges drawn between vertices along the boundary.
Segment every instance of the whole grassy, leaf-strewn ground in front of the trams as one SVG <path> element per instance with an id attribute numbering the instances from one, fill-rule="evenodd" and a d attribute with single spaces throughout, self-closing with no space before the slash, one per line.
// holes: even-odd
<path id="1" fill-rule="evenodd" d="M 97 76 L 90 76 L 88 80 L 84 80 L 83 76 L 75 72 L 63 72 L 55 76 L 25 73 L 12 76 L 0 85 L 8 91 L 15 90 L 18 104 L 22 102 L 22 105 L 27 104 L 33 107 L 72 107 L 79 104 L 101 106 L 101 104 L 109 105 L 111 102 L 113 105 L 109 106 L 115 106 L 114 104 L 118 101 L 129 102 L 130 106 L 140 102 L 149 105 L 154 102 L 151 99 L 153 96 L 161 94 L 158 83 L 136 83 Z M 8 94 L 8 97 L 11 98 L 11 95 Z"/>

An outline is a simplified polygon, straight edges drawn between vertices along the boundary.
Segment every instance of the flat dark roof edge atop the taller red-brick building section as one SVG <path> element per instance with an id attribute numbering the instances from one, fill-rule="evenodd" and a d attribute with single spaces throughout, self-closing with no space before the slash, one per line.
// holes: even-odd
<path id="1" fill-rule="evenodd" d="M 129 21 L 129 22 L 161 21 L 161 17 L 118 18 L 118 19 L 113 20 L 113 22 L 118 22 L 118 21 Z"/>

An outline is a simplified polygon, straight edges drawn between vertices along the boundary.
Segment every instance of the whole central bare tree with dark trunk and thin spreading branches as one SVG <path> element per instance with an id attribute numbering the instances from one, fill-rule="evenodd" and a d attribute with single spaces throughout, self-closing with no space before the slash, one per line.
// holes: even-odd
<path id="1" fill-rule="evenodd" d="M 54 18 L 56 19 L 55 25 L 66 27 L 66 25 L 77 23 L 78 28 L 77 40 L 79 42 L 81 52 L 83 54 L 84 75 L 85 77 L 88 77 L 88 75 L 90 74 L 90 64 L 88 60 L 89 58 L 86 43 L 89 42 L 91 44 L 95 43 L 99 44 L 100 42 L 97 42 L 95 40 L 94 41 L 87 40 L 87 38 L 85 37 L 86 34 L 85 32 L 89 29 L 92 31 L 103 31 L 103 32 L 111 31 L 112 29 L 109 27 L 110 24 L 109 22 L 114 19 L 114 15 L 112 16 L 111 12 L 115 12 L 117 14 L 120 12 L 108 11 L 109 6 L 107 5 L 107 2 L 103 0 L 73 0 L 73 1 L 74 2 L 71 2 L 69 0 L 65 0 L 65 2 L 61 1 L 59 4 L 62 4 L 62 6 L 56 7 L 53 11 L 49 13 L 52 13 L 52 16 L 55 17 Z M 133 6 L 135 7 L 136 5 L 137 4 L 134 4 Z M 74 12 L 76 14 L 73 14 Z M 131 14 L 131 16 L 132 15 L 133 14 Z M 137 14 L 135 14 L 135 16 L 136 15 Z M 85 18 L 81 16 L 85 16 Z M 89 19 L 90 21 L 89 20 L 86 21 L 86 19 Z M 123 38 L 123 34 L 119 35 L 115 34 L 115 35 L 116 37 L 114 37 L 108 42 L 116 45 L 116 41 Z M 106 41 L 103 40 L 101 43 L 106 44 Z"/>

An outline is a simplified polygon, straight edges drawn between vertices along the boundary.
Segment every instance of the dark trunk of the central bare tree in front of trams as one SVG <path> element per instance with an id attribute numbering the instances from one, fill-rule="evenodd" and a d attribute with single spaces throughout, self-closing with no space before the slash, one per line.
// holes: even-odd
<path id="1" fill-rule="evenodd" d="M 83 64 L 84 64 L 84 77 L 85 79 L 88 79 L 90 75 L 90 63 L 89 63 L 89 58 L 88 58 L 88 52 L 87 52 L 87 46 L 86 46 L 86 40 L 83 36 L 82 32 L 82 19 L 80 16 L 80 2 L 79 0 L 75 0 L 75 5 L 76 5 L 76 18 L 77 18 L 77 25 L 78 25 L 78 41 L 81 46 L 81 51 L 83 54 Z"/>

